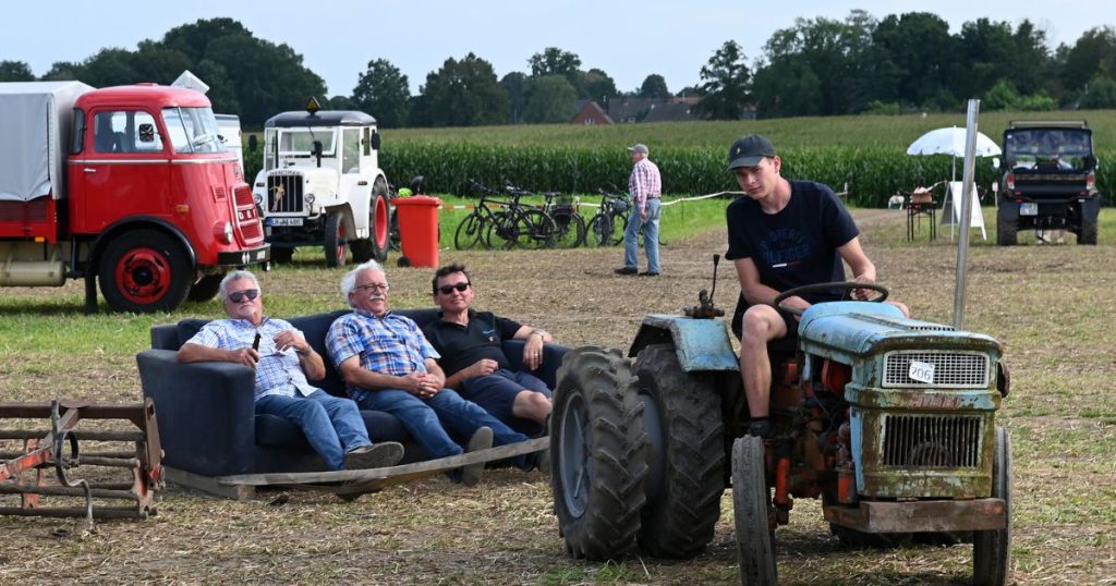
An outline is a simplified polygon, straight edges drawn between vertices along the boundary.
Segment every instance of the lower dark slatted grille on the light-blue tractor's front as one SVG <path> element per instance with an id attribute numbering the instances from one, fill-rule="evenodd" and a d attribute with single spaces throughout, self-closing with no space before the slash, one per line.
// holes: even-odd
<path id="1" fill-rule="evenodd" d="M 981 417 L 886 415 L 884 465 L 980 468 Z"/>

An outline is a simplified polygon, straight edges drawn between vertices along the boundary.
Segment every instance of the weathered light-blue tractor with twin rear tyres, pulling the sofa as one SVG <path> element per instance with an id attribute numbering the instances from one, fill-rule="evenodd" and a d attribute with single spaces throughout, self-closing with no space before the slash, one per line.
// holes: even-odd
<path id="1" fill-rule="evenodd" d="M 550 420 L 567 553 L 694 557 L 731 488 L 741 584 L 777 583 L 776 529 L 795 498 L 820 499 L 850 545 L 971 540 L 973 582 L 1004 584 L 1011 443 L 995 424 L 1009 391 L 1000 344 L 905 318 L 879 302 L 882 286 L 809 286 L 855 288 L 877 296 L 816 304 L 797 343 L 769 345 L 769 439 L 748 434 L 737 353 L 705 290 L 684 316 L 646 316 L 627 357 L 571 350 Z"/>

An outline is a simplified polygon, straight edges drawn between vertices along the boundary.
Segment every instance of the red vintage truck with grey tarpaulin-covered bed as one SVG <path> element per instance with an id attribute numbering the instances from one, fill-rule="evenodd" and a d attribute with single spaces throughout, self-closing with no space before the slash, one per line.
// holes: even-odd
<path id="1" fill-rule="evenodd" d="M 121 311 L 211 299 L 270 246 L 209 98 L 137 84 L 0 84 L 0 286 L 96 282 Z"/>

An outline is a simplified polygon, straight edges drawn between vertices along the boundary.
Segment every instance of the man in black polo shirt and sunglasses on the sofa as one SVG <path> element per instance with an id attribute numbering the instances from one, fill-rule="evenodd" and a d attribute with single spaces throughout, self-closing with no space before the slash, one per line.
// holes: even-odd
<path id="1" fill-rule="evenodd" d="M 434 273 L 434 302 L 441 308 L 441 319 L 423 333 L 442 355 L 439 365 L 445 371 L 445 386 L 512 429 L 541 432 L 550 415 L 550 390 L 529 372 L 512 371 L 502 342 L 526 340 L 523 365 L 533 371 L 542 364 L 542 344 L 554 337 L 490 311 L 471 309 L 473 292 L 462 265 L 449 265 Z"/>

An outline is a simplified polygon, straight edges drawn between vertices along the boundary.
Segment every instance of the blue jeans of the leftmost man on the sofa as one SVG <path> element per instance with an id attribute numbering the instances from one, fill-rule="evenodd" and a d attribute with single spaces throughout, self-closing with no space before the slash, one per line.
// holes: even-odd
<path id="1" fill-rule="evenodd" d="M 372 444 L 356 403 L 325 391 L 305 397 L 267 395 L 256 402 L 256 412 L 287 419 L 301 428 L 330 470 L 345 468 L 346 452 Z"/>

